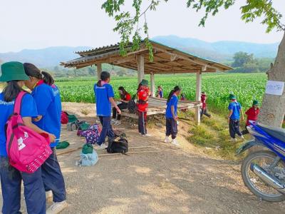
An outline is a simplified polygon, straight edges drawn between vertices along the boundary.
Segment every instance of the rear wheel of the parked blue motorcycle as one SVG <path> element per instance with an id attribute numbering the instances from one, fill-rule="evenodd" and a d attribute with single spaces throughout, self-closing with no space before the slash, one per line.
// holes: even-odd
<path id="1" fill-rule="evenodd" d="M 276 154 L 271 151 L 255 151 L 249 153 L 249 155 L 244 158 L 244 161 L 242 161 L 242 180 L 244 180 L 244 185 L 246 185 L 254 195 L 269 202 L 283 201 L 285 200 L 285 195 L 279 193 L 279 191 L 275 190 L 255 175 L 252 170 L 250 170 L 250 165 L 251 163 L 256 163 L 266 170 L 267 173 L 274 174 L 269 168 L 269 165 L 274 162 L 275 158 Z M 277 163 L 273 170 L 280 169 L 285 171 L 285 163 L 282 160 Z M 283 171 L 281 171 L 281 173 L 282 172 Z"/>

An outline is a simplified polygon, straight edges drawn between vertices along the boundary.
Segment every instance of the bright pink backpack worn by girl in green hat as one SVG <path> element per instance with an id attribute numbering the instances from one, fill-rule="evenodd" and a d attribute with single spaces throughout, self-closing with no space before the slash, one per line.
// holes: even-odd
<path id="1" fill-rule="evenodd" d="M 33 173 L 46 161 L 52 151 L 46 133 L 36 133 L 24 125 L 21 118 L 21 101 L 26 92 L 16 98 L 14 114 L 6 123 L 6 150 L 9 163 L 24 173 Z"/>

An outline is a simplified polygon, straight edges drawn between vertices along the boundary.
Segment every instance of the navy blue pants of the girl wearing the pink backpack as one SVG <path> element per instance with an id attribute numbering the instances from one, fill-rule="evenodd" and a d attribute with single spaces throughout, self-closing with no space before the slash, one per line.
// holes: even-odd
<path id="1" fill-rule="evenodd" d="M 21 213 L 21 180 L 28 214 L 46 213 L 46 192 L 41 178 L 41 168 L 34 173 L 21 173 L 9 165 L 7 157 L 0 156 L 0 176 L 3 196 L 3 214 Z"/>

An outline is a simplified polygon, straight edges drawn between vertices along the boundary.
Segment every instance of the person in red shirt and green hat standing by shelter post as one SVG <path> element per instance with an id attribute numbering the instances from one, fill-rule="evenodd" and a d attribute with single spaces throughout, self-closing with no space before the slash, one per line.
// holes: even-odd
<path id="1" fill-rule="evenodd" d="M 150 97 L 150 89 L 148 81 L 143 79 L 138 86 L 138 132 L 142 136 L 150 136 L 147 134 L 147 107 L 148 98 Z"/>

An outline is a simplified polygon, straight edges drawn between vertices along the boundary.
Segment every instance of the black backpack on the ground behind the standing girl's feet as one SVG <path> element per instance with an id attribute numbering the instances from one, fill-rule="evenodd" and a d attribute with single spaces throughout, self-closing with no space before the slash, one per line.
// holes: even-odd
<path id="1" fill-rule="evenodd" d="M 108 139 L 108 153 L 128 153 L 128 140 L 125 133 Z"/>

